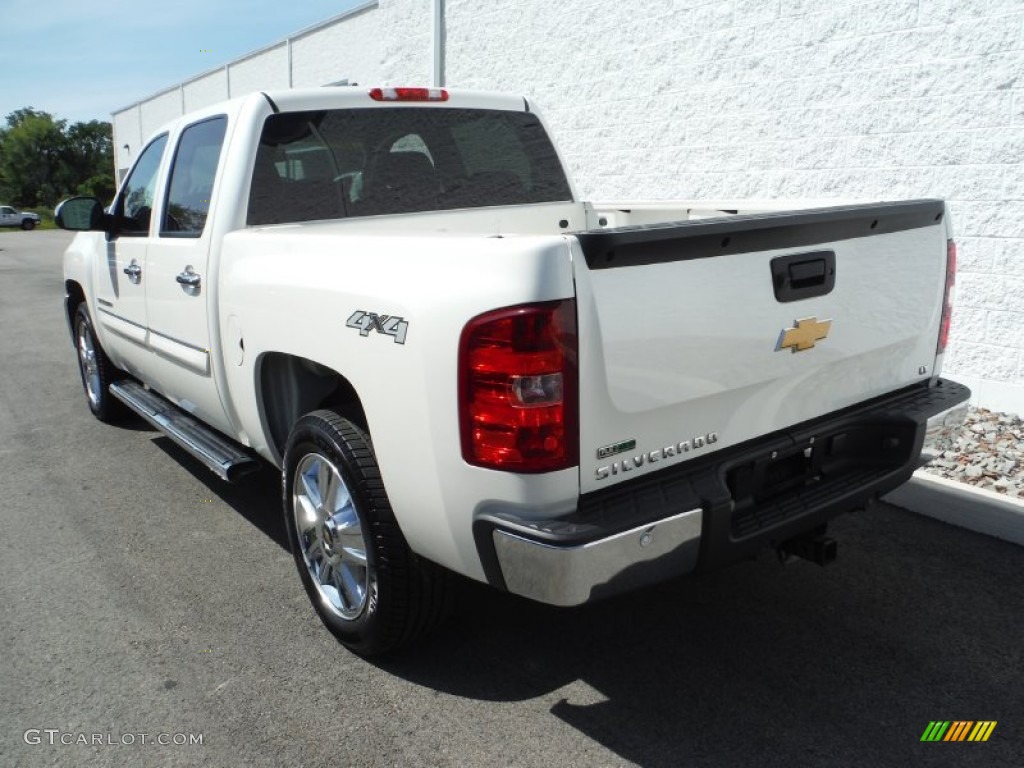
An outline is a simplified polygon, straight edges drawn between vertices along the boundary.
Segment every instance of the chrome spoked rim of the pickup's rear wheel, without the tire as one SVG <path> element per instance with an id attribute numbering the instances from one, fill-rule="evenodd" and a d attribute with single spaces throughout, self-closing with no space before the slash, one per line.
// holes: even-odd
<path id="1" fill-rule="evenodd" d="M 295 468 L 292 514 L 306 568 L 324 605 L 357 618 L 367 605 L 370 567 L 362 523 L 338 468 L 306 454 Z"/>

